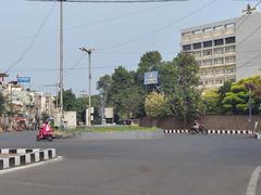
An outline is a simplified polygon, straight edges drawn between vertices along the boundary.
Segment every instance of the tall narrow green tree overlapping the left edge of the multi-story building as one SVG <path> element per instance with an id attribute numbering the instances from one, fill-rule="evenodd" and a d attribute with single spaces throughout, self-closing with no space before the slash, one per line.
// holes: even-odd
<path id="1" fill-rule="evenodd" d="M 179 53 L 174 58 L 176 86 L 170 95 L 170 106 L 174 116 L 183 121 L 184 128 L 200 114 L 201 99 L 197 89 L 199 66 L 190 54 Z"/>

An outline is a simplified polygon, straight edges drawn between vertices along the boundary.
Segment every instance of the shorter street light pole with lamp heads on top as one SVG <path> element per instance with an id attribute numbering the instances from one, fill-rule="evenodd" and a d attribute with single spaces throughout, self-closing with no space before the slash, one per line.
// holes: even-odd
<path id="1" fill-rule="evenodd" d="M 86 125 L 91 125 L 90 122 L 90 99 L 91 99 L 91 53 L 92 51 L 95 51 L 95 49 L 86 49 L 86 48 L 79 48 L 80 51 L 83 52 L 87 52 L 88 53 L 88 58 L 89 58 L 89 62 L 88 62 L 88 93 L 89 93 L 89 105 L 88 105 L 88 121 L 86 121 Z"/>

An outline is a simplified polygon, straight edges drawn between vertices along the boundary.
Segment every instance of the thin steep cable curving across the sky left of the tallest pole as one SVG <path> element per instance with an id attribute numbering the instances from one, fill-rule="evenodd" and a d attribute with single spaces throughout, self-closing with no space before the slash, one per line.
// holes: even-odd
<path id="1" fill-rule="evenodd" d="M 10 65 L 10 67 L 5 70 L 5 74 L 9 73 L 14 66 L 16 66 L 16 65 L 24 58 L 25 54 L 30 51 L 30 49 L 32 49 L 33 46 L 35 44 L 37 38 L 39 37 L 42 27 L 45 26 L 46 22 L 47 22 L 48 18 L 50 17 L 53 8 L 54 8 L 54 3 L 52 4 L 52 6 L 51 6 L 50 11 L 48 12 L 47 16 L 44 18 L 42 24 L 41 24 L 40 27 L 38 28 L 35 37 L 34 37 L 34 39 L 32 40 L 32 42 L 29 43 L 29 46 L 21 53 L 18 60 L 15 61 L 12 65 Z"/>

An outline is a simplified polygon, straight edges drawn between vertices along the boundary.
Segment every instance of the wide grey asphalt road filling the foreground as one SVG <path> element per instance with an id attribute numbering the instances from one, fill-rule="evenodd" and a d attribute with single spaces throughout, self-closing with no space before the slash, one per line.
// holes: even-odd
<path id="1" fill-rule="evenodd" d="M 1 195 L 246 195 L 261 165 L 249 135 L 37 143 L 35 133 L 1 134 L 0 147 L 54 147 L 63 161 L 0 174 Z"/>

